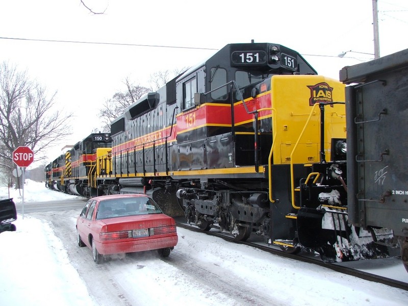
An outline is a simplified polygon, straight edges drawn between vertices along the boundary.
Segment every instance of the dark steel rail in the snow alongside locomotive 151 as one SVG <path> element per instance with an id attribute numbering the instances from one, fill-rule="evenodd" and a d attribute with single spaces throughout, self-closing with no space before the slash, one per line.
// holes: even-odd
<path id="1" fill-rule="evenodd" d="M 230 241 L 232 243 L 244 244 L 244 245 L 252 246 L 254 248 L 262 249 L 263 251 L 266 251 L 271 254 L 281 256 L 281 257 L 290 258 L 290 259 L 294 259 L 297 261 L 322 266 L 327 269 L 337 271 L 339 273 L 343 273 L 343 274 L 359 277 L 361 279 L 365 279 L 366 281 L 376 282 L 376 283 L 384 284 L 390 287 L 395 287 L 395 288 L 399 288 L 399 289 L 408 291 L 408 283 L 398 281 L 397 279 L 392 279 L 392 278 L 384 277 L 381 275 L 368 273 L 368 272 L 361 271 L 358 269 L 353 269 L 353 268 L 349 268 L 349 267 L 345 267 L 345 266 L 341 266 L 337 264 L 324 263 L 321 261 L 319 256 L 312 254 L 310 252 L 301 252 L 297 255 L 286 253 L 276 246 L 271 246 L 264 242 L 257 241 L 257 239 L 252 239 L 252 236 L 254 235 L 250 237 L 249 241 L 236 241 L 232 235 L 228 235 L 220 231 L 216 231 L 216 230 L 210 230 L 208 232 L 202 231 L 197 226 L 192 225 L 192 224 L 187 224 L 181 220 L 176 219 L 176 225 L 186 228 L 187 230 L 190 230 L 190 231 L 200 232 L 204 235 L 219 237 L 226 241 Z M 403 269 L 402 266 L 401 268 Z"/>

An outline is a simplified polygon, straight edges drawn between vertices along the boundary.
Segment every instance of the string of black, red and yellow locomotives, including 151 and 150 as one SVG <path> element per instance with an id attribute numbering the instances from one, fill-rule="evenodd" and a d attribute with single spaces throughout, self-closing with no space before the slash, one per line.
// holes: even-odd
<path id="1" fill-rule="evenodd" d="M 350 126 L 347 112 L 361 106 L 350 109 L 346 84 L 371 77 L 341 71 L 342 81 L 319 75 L 281 44 L 227 44 L 127 107 L 110 133 L 90 134 L 47 165 L 46 186 L 86 197 L 146 193 L 202 231 L 215 227 L 237 241 L 259 235 L 324 262 L 388 257 L 396 239 L 407 253 L 406 230 L 394 236 L 397 219 L 381 222 L 391 210 L 363 217 L 373 202 L 356 194 L 360 176 L 372 173 L 355 172 L 356 161 L 350 169 L 350 145 L 359 155 L 360 142 L 377 139 L 360 139 L 362 125 Z M 406 211 L 401 204 L 408 220 Z"/>

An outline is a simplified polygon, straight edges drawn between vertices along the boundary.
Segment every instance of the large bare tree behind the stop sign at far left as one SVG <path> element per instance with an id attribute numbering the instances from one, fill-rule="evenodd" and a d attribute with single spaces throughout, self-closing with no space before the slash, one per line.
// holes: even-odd
<path id="1" fill-rule="evenodd" d="M 55 109 L 56 93 L 30 81 L 27 72 L 14 65 L 0 65 L 0 168 L 11 176 L 15 165 L 12 152 L 18 146 L 30 147 L 37 160 L 41 153 L 58 144 L 69 128 L 71 113 Z"/>

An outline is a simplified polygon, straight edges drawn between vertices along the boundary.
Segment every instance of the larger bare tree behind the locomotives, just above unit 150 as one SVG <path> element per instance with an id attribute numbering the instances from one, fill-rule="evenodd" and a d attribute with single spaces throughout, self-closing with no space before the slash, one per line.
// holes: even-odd
<path id="1" fill-rule="evenodd" d="M 126 91 L 115 93 L 112 98 L 106 99 L 103 108 L 99 110 L 99 118 L 104 123 L 103 132 L 111 130 L 111 123 L 117 117 L 124 113 L 126 107 L 132 105 L 143 94 L 149 92 L 149 89 L 140 85 L 134 85 L 126 78 Z"/>

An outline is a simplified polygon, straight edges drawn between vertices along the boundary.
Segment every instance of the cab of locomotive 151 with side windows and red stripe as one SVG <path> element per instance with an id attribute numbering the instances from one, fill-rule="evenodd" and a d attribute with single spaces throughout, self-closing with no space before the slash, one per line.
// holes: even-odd
<path id="1" fill-rule="evenodd" d="M 281 74 L 317 72 L 285 46 L 247 43 L 226 45 L 181 75 L 176 81 L 181 112 L 176 116 L 177 151 L 172 168 L 267 164 L 272 145 L 271 103 L 262 95 L 271 90 L 268 80 L 272 75 Z M 257 108 L 265 111 L 258 113 Z"/>

